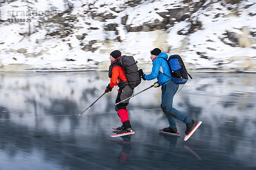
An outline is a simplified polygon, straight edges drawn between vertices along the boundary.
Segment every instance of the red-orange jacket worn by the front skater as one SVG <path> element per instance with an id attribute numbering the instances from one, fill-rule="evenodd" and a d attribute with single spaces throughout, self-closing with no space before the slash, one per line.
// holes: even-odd
<path id="1" fill-rule="evenodd" d="M 113 88 L 115 85 L 119 85 L 121 82 L 128 82 L 127 78 L 125 77 L 125 71 L 123 70 L 122 65 L 117 64 L 117 61 L 120 57 L 111 62 L 111 65 L 109 66 L 108 77 L 110 78 L 109 86 L 111 88 Z"/>

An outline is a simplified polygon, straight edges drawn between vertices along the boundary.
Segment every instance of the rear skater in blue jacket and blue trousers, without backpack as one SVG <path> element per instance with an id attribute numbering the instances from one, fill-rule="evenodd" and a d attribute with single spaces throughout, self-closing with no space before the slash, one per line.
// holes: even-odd
<path id="1" fill-rule="evenodd" d="M 159 48 L 154 48 L 154 50 L 150 51 L 150 53 L 150 58 L 153 62 L 151 74 L 145 75 L 142 69 L 139 70 L 139 73 L 143 80 L 152 80 L 157 78 L 157 81 L 159 83 L 158 87 L 162 85 L 161 108 L 166 114 L 169 122 L 169 127 L 165 127 L 162 130 L 169 133 L 177 133 L 177 127 L 174 119 L 176 118 L 186 124 L 185 133 L 186 135 L 188 135 L 190 131 L 195 127 L 196 121 L 184 115 L 183 113 L 180 113 L 180 111 L 172 107 L 173 97 L 179 88 L 179 84 L 176 84 L 172 81 L 172 74 L 165 60 L 168 58 L 168 55 L 164 52 L 161 52 Z M 169 77 L 167 77 L 163 73 Z"/>

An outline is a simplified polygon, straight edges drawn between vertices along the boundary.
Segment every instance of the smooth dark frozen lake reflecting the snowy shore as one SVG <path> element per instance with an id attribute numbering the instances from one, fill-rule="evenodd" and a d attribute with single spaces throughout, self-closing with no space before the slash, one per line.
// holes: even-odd
<path id="1" fill-rule="evenodd" d="M 173 107 L 203 124 L 188 141 L 167 127 L 161 89 L 131 98 L 132 136 L 121 125 L 107 72 L 0 73 L 0 170 L 255 170 L 255 74 L 192 73 Z M 135 93 L 154 81 L 142 81 Z M 181 85 L 180 85 L 181 88 Z"/>

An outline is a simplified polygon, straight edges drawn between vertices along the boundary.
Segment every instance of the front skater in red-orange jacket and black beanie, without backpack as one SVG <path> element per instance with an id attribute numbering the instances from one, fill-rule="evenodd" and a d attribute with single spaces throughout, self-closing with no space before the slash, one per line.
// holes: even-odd
<path id="1" fill-rule="evenodd" d="M 108 77 L 110 78 L 110 83 L 105 89 L 105 93 L 108 93 L 112 90 L 112 88 L 115 85 L 118 85 L 119 90 L 116 97 L 116 103 L 121 102 L 122 100 L 132 96 L 134 92 L 134 89 L 130 88 L 130 86 L 128 85 L 128 80 L 125 76 L 125 71 L 123 70 L 122 65 L 119 65 L 117 63 L 120 57 L 121 57 L 121 52 L 119 50 L 112 51 L 110 54 L 109 58 L 111 60 L 111 65 L 109 66 L 109 70 L 108 70 Z M 117 111 L 117 114 L 120 117 L 122 122 L 122 126 L 116 128 L 117 130 L 119 130 L 117 134 L 132 131 L 129 116 L 128 116 L 128 110 L 126 108 L 128 104 L 129 104 L 129 99 L 119 103 L 115 107 L 115 110 Z"/>

